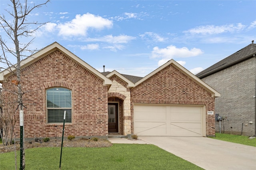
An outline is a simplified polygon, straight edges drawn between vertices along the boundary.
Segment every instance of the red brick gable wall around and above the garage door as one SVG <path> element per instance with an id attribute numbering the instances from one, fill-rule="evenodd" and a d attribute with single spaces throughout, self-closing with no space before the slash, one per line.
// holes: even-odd
<path id="1" fill-rule="evenodd" d="M 214 99 L 210 92 L 183 74 L 172 64 L 166 66 L 138 86 L 131 89 L 131 114 L 134 104 L 183 104 L 206 106 L 206 136 L 215 135 Z M 134 132 L 132 119 L 131 128 Z"/>

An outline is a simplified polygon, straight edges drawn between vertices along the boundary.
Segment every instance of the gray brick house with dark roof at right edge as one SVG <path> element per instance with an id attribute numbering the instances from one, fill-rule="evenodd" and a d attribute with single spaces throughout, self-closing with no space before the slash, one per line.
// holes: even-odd
<path id="1" fill-rule="evenodd" d="M 198 73 L 196 76 L 220 92 L 215 113 L 222 116 L 222 133 L 256 134 L 256 45 L 252 44 Z M 216 131 L 220 131 L 216 122 Z"/>

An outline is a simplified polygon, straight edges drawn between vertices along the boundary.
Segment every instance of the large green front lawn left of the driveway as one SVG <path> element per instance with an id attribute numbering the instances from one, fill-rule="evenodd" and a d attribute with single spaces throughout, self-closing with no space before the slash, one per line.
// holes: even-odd
<path id="1" fill-rule="evenodd" d="M 18 168 L 19 168 L 19 151 Z M 26 149 L 26 170 L 57 170 L 60 148 Z M 0 154 L 1 170 L 15 169 L 14 152 Z M 63 148 L 62 170 L 202 170 L 155 145 L 113 144 L 106 148 Z"/>

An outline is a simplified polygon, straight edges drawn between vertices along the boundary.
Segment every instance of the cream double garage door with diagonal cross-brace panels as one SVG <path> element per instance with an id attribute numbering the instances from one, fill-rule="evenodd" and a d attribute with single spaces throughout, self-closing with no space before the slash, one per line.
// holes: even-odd
<path id="1" fill-rule="evenodd" d="M 205 136 L 205 107 L 192 105 L 134 105 L 134 134 L 138 136 Z"/>

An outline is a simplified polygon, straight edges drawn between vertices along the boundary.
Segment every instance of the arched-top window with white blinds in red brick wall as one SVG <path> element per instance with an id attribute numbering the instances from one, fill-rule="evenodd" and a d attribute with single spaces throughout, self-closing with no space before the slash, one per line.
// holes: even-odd
<path id="1" fill-rule="evenodd" d="M 63 123 L 66 110 L 66 123 L 71 123 L 72 94 L 67 88 L 50 88 L 46 90 L 48 123 Z"/>

